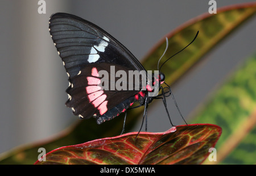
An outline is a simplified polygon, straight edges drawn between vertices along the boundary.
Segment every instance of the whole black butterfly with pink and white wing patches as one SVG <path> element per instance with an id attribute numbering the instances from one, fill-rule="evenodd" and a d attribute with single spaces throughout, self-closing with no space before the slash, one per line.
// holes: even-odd
<path id="1" fill-rule="evenodd" d="M 144 106 L 144 119 L 148 104 L 154 99 L 163 100 L 168 114 L 166 97 L 172 93 L 166 83 L 167 91 L 160 86 L 164 74 L 148 74 L 137 58 L 108 32 L 79 16 L 61 12 L 51 15 L 49 32 L 68 74 L 65 104 L 72 108 L 73 114 L 81 119 L 96 118 L 97 124 L 102 124 L 138 103 L 137 107 Z M 130 72 L 141 74 L 134 75 L 131 81 L 121 78 L 121 74 L 117 77 L 120 72 L 126 76 Z M 108 76 L 103 77 L 102 73 Z M 120 89 L 120 86 L 131 89 Z M 106 87 L 112 89 L 102 89 Z M 155 90 L 161 93 L 150 96 Z"/>

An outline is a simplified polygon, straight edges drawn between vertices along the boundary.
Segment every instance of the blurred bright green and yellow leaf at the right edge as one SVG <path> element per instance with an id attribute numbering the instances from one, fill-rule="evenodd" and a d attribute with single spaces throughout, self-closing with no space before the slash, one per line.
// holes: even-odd
<path id="1" fill-rule="evenodd" d="M 222 127 L 222 136 L 216 145 L 218 163 L 255 164 L 255 68 L 256 55 L 234 72 L 192 120 L 192 123 L 207 121 Z"/>

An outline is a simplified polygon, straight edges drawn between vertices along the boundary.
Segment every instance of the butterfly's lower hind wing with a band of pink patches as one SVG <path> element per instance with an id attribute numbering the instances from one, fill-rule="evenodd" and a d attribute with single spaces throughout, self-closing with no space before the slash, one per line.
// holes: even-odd
<path id="1" fill-rule="evenodd" d="M 134 95 L 138 94 L 139 90 L 117 90 L 117 86 L 115 86 L 118 79 L 122 81 L 122 86 L 127 87 L 127 89 L 129 86 L 135 87 L 134 82 L 129 83 L 125 77 L 112 79 L 112 74 L 116 72 L 111 71 L 111 66 L 113 64 L 108 63 L 86 65 L 77 76 L 73 77 L 71 86 L 67 89 L 69 99 L 66 105 L 72 108 L 75 115 L 84 119 L 94 116 L 97 119 L 105 112 L 110 111 L 111 113 L 107 118 L 112 119 L 135 102 Z M 129 71 L 125 67 L 114 66 L 115 71 L 123 70 L 125 73 Z M 100 76 L 98 73 L 102 70 L 107 75 Z M 112 90 L 112 86 L 115 89 Z"/>

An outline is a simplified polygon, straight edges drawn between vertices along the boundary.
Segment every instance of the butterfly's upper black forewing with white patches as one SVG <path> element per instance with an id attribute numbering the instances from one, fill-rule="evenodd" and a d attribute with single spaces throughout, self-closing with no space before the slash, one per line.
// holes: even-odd
<path id="1" fill-rule="evenodd" d="M 130 70 L 144 70 L 141 63 L 119 41 L 100 27 L 78 16 L 56 13 L 49 19 L 49 32 L 69 77 L 83 65 L 108 62 Z"/>

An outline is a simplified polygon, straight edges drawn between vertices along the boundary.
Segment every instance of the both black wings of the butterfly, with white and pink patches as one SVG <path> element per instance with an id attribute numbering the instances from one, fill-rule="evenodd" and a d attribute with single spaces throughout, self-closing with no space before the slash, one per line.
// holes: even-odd
<path id="1" fill-rule="evenodd" d="M 134 95 L 139 90 L 98 90 L 97 85 L 89 85 L 87 78 L 93 77 L 92 69 L 106 69 L 106 64 L 116 66 L 116 72 L 144 70 L 137 58 L 109 33 L 78 16 L 65 13 L 51 16 L 49 32 L 69 76 L 66 105 L 75 115 L 98 118 L 106 112 L 106 119 L 111 119 L 136 100 Z M 127 82 L 129 84 L 134 82 Z M 91 86 L 94 86 L 93 91 L 86 90 Z"/>

